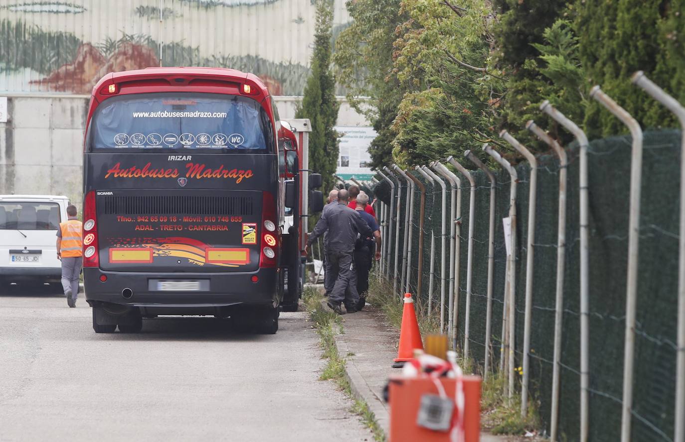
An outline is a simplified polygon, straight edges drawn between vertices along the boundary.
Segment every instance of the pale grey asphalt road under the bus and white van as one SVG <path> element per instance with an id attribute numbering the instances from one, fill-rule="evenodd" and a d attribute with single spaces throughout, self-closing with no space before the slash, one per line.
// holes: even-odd
<path id="1" fill-rule="evenodd" d="M 282 313 L 276 335 L 201 317 L 96 335 L 82 298 L 69 309 L 45 291 L 0 288 L 1 442 L 373 440 L 318 380 L 303 313 Z"/>

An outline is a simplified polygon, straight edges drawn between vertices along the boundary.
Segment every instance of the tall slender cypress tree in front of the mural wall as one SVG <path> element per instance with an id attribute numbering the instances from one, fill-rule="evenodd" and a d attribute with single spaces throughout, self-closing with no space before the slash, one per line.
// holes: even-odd
<path id="1" fill-rule="evenodd" d="M 334 173 L 338 161 L 338 133 L 334 129 L 338 120 L 336 80 L 330 68 L 333 3 L 316 0 L 316 33 L 312 54 L 312 73 L 307 79 L 302 105 L 295 118 L 309 118 L 312 132 L 309 136 L 310 168 L 321 174 L 325 190 L 334 187 Z"/>

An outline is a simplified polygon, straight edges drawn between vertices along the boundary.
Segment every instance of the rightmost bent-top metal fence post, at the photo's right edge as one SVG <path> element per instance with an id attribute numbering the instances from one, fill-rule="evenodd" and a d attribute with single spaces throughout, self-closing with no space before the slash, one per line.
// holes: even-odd
<path id="1" fill-rule="evenodd" d="M 678 239 L 678 332 L 675 368 L 675 431 L 673 442 L 685 442 L 685 107 L 664 92 L 641 70 L 632 82 L 666 106 L 680 120 L 680 237 Z"/>

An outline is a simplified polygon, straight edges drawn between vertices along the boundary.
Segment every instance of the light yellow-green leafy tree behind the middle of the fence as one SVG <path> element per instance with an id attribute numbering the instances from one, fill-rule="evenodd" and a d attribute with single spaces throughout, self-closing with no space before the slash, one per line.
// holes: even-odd
<path id="1" fill-rule="evenodd" d="M 393 154 L 421 164 L 495 135 L 501 73 L 488 66 L 491 14 L 485 2 L 403 0 L 409 16 L 395 42 L 395 69 L 409 92 L 393 124 Z"/>

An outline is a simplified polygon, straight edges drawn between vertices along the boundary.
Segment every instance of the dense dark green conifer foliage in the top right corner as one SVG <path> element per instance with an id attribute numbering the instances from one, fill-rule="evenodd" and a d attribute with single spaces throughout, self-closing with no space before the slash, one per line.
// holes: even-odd
<path id="1" fill-rule="evenodd" d="M 685 97 L 685 52 L 682 1 L 578 1 L 575 27 L 580 61 L 588 79 L 599 84 L 621 107 L 649 126 L 673 125 L 673 114 L 630 84 L 644 70 L 669 92 Z M 596 101 L 585 115 L 588 135 L 625 133 L 625 126 Z"/>

